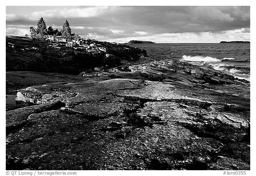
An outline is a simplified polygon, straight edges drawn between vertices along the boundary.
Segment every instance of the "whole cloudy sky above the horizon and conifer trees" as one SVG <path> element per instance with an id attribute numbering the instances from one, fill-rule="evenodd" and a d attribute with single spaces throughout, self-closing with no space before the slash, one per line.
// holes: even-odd
<path id="1" fill-rule="evenodd" d="M 6 6 L 6 35 L 29 35 L 43 17 L 85 38 L 125 43 L 250 41 L 250 6 Z"/>

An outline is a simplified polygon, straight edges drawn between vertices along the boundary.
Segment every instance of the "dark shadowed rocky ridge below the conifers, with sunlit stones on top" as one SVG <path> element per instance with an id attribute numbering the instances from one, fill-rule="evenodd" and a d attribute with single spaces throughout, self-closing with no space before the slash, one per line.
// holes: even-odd
<path id="1" fill-rule="evenodd" d="M 140 48 L 93 39 L 60 38 L 47 40 L 6 37 L 6 71 L 35 71 L 79 74 L 94 67 L 113 67 L 123 60 L 146 57 Z"/>

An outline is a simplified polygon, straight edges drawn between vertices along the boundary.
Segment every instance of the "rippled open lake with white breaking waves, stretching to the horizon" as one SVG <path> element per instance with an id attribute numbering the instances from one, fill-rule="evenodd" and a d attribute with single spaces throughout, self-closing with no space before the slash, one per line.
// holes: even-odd
<path id="1" fill-rule="evenodd" d="M 145 49 L 153 60 L 184 60 L 250 81 L 250 44 L 156 43 L 130 46 Z"/>

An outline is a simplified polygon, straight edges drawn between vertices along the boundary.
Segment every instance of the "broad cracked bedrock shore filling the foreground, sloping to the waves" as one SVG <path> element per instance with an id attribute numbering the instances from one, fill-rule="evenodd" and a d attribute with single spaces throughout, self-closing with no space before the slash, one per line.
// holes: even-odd
<path id="1" fill-rule="evenodd" d="M 31 106 L 6 112 L 6 169 L 250 170 L 250 82 L 130 50 L 80 75 L 7 72 Z"/>

